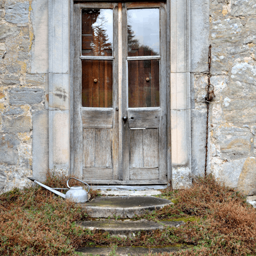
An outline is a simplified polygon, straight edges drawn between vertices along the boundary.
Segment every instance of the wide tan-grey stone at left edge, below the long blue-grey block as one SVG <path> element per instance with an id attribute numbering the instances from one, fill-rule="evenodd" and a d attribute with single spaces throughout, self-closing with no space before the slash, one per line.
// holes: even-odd
<path id="1" fill-rule="evenodd" d="M 8 118 L 3 116 L 3 131 L 4 132 L 30 132 L 30 117 L 20 116 Z"/>

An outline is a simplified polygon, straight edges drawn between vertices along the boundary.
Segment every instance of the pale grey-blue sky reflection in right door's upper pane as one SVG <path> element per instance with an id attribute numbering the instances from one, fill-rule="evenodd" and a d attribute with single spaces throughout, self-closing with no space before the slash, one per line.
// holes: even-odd
<path id="1" fill-rule="evenodd" d="M 127 21 L 134 32 L 134 39 L 159 54 L 159 9 L 127 10 Z"/>

